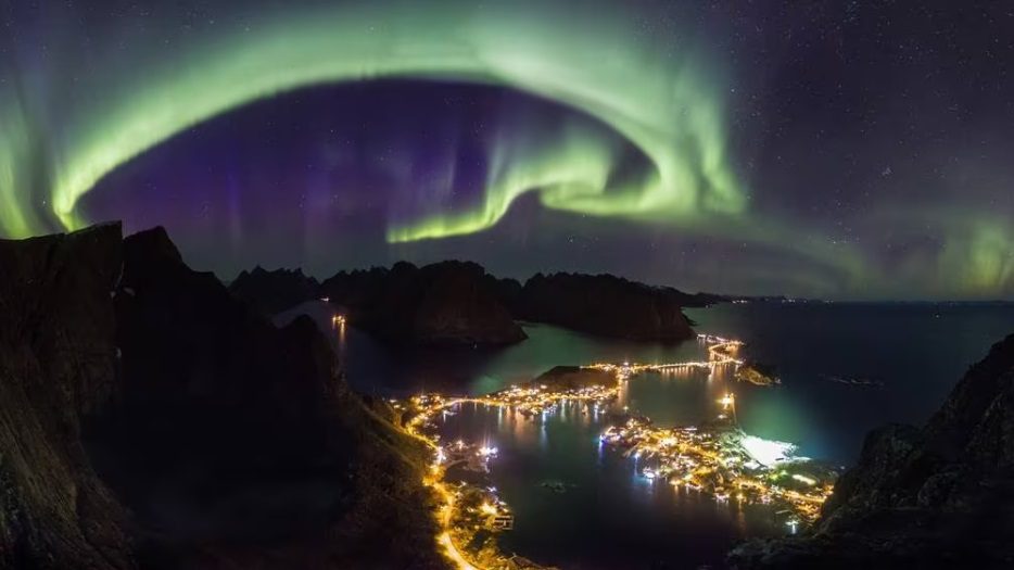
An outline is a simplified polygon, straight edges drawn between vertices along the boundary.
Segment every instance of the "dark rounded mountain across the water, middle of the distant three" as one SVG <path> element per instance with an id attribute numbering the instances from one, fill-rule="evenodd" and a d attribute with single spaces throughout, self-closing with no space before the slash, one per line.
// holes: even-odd
<path id="1" fill-rule="evenodd" d="M 340 273 L 321 293 L 348 309 L 352 322 L 393 342 L 498 345 L 525 338 L 499 302 L 497 281 L 473 263 L 442 262 L 390 270 Z"/>

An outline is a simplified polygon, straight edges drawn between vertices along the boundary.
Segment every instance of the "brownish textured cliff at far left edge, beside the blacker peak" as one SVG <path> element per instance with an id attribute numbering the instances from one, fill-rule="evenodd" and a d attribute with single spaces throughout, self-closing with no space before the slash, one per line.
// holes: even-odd
<path id="1" fill-rule="evenodd" d="M 130 568 L 81 423 L 116 393 L 118 225 L 0 240 L 0 567 Z"/>

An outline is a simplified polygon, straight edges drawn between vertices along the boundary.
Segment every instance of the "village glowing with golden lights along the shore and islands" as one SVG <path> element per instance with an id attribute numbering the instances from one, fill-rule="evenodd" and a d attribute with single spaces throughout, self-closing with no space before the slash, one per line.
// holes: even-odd
<path id="1" fill-rule="evenodd" d="M 702 493 L 731 506 L 766 505 L 784 520 L 790 533 L 815 519 L 832 492 L 836 471 L 796 457 L 791 444 L 744 433 L 736 422 L 733 393 L 715 402 L 713 421 L 694 427 L 658 428 L 648 418 L 609 409 L 622 383 L 649 371 L 714 370 L 732 366 L 737 372 L 734 378 L 740 381 L 761 385 L 776 382 L 759 373 L 752 377 L 738 373 L 739 368 L 746 367 L 737 356 L 739 341 L 704 334 L 698 340 L 707 346 L 708 360 L 663 365 L 594 364 L 574 369 L 593 373 L 543 378 L 483 396 L 423 394 L 407 402 L 392 402 L 406 432 L 433 448 L 433 463 L 424 483 L 440 498 L 438 541 L 456 567 L 544 568 L 509 556 L 497 547 L 496 533 L 509 530 L 514 517 L 495 487 L 447 478 L 448 469 L 455 466 L 485 472 L 499 454 L 499 449 L 489 443 L 441 441 L 435 420 L 455 413 L 462 404 L 510 408 L 530 421 L 540 421 L 544 415 L 556 413 L 561 404 L 580 403 L 596 416 L 609 414 L 613 423 L 600 435 L 601 444 L 635 461 L 639 477 L 655 484 L 670 484 L 685 493 Z M 762 380 L 757 381 L 757 378 Z"/>

